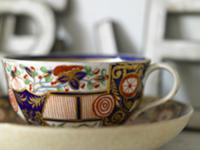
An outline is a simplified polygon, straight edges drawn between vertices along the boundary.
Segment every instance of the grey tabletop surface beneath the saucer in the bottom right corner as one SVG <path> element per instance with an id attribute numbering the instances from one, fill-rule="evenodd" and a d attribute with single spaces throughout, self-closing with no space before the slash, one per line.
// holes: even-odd
<path id="1" fill-rule="evenodd" d="M 160 150 L 200 150 L 200 131 L 183 131 Z"/>

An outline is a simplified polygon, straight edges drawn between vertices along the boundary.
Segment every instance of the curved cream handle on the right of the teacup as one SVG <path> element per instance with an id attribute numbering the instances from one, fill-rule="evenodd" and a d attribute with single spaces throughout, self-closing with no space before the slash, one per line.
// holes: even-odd
<path id="1" fill-rule="evenodd" d="M 158 105 L 161 105 L 165 102 L 167 102 L 168 100 L 170 100 L 178 91 L 179 86 L 180 86 L 180 78 L 179 75 L 177 73 L 177 71 L 175 71 L 172 67 L 170 67 L 167 64 L 164 63 L 159 63 L 159 64 L 152 64 L 148 67 L 148 69 L 146 70 L 145 76 L 144 76 L 144 84 L 146 83 L 146 80 L 148 79 L 149 75 L 154 72 L 155 70 L 159 70 L 159 69 L 164 69 L 166 71 L 168 71 L 174 78 L 174 83 L 172 86 L 171 91 L 164 96 L 163 98 L 160 98 L 150 104 L 147 104 L 146 106 L 143 106 L 142 108 L 139 108 L 139 110 L 137 110 L 136 112 L 134 112 L 134 116 L 133 118 L 136 118 L 139 114 L 141 114 L 142 112 L 152 108 L 152 107 L 156 107 Z M 132 118 L 132 117 L 131 117 Z"/>

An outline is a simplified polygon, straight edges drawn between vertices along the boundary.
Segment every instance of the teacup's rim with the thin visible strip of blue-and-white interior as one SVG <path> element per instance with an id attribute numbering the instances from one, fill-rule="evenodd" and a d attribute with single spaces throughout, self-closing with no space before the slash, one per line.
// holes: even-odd
<path id="1" fill-rule="evenodd" d="M 46 59 L 46 60 L 45 60 Z M 50 60 L 49 60 L 50 59 Z M 99 60 L 97 60 L 99 59 Z M 107 59 L 107 60 L 105 60 Z M 3 61 L 19 61 L 19 62 L 48 62 L 48 63 L 120 63 L 120 62 L 140 62 L 148 63 L 149 58 L 133 55 L 133 54 L 91 54 L 91 55 L 21 55 L 21 56 L 4 56 Z"/>

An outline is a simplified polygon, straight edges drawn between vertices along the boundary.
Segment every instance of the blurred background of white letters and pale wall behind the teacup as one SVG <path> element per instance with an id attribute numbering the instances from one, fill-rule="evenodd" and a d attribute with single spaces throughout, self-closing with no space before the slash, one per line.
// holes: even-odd
<path id="1" fill-rule="evenodd" d="M 130 53 L 170 63 L 182 81 L 175 99 L 192 103 L 200 125 L 199 12 L 198 0 L 1 0 L 0 56 Z M 155 73 L 145 93 L 162 96 L 171 84 Z M 7 95 L 4 77 L 0 87 Z"/>

